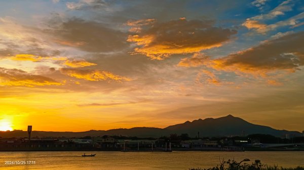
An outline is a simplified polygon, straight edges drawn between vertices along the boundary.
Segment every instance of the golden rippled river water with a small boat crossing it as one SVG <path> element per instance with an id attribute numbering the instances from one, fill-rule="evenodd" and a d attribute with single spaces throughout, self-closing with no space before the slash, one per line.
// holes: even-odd
<path id="1" fill-rule="evenodd" d="M 60 152 L 0 152 L 0 169 L 126 169 L 159 170 L 208 168 L 219 163 L 220 159 L 251 161 L 260 159 L 268 165 L 283 167 L 304 166 L 304 151 L 284 152 L 119 152 L 86 151 L 96 153 L 95 157 L 82 157 L 84 151 Z M 19 162 L 18 162 L 19 161 Z M 33 162 L 34 161 L 34 162 Z M 12 163 L 15 164 L 5 164 Z M 26 164 L 16 164 L 26 163 Z M 31 163 L 31 164 L 27 164 Z M 34 163 L 34 164 L 33 164 Z"/>

